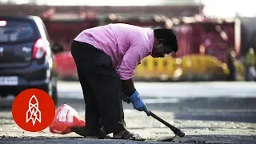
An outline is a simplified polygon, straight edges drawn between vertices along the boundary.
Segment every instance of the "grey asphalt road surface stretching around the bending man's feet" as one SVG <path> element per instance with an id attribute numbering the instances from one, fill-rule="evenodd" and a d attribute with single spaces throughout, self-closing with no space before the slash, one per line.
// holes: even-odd
<path id="1" fill-rule="evenodd" d="M 155 114 L 186 133 L 170 143 L 256 143 L 256 83 L 254 82 L 137 82 L 136 88 Z M 68 104 L 84 118 L 85 104 L 78 82 L 59 82 L 59 105 Z M 30 134 L 15 126 L 10 100 L 0 104 L 0 143 L 159 143 L 174 134 L 169 128 L 124 103 L 128 129 L 146 142 L 94 140 L 77 134 Z M 9 106 L 9 108 L 8 108 Z M 1 115 L 2 114 L 2 115 Z M 8 126 L 5 125 L 8 123 Z M 12 127 L 10 129 L 10 127 Z M 13 129 L 14 128 L 14 129 Z M 19 133 L 19 131 L 21 133 Z M 18 138 L 14 138 L 18 137 Z"/>

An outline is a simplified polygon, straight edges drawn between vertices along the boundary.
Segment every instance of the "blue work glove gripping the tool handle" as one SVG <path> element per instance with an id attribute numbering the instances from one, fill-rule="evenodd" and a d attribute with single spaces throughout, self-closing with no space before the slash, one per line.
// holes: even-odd
<path id="1" fill-rule="evenodd" d="M 148 116 L 150 116 L 150 110 L 147 109 L 146 104 L 142 101 L 141 96 L 138 91 L 135 90 L 134 94 L 129 97 L 130 102 L 133 103 L 134 109 L 139 111 L 145 111 Z"/>

